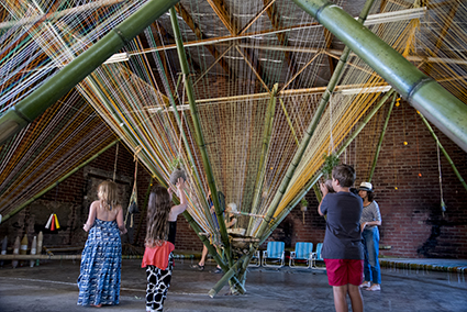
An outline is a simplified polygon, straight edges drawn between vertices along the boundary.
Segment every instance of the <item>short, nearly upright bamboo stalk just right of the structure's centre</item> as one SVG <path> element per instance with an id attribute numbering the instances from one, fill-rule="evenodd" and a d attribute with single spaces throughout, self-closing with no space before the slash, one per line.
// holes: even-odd
<path id="1" fill-rule="evenodd" d="M 252 213 L 256 214 L 258 211 L 259 205 L 259 199 L 262 198 L 262 190 L 263 190 L 263 182 L 264 177 L 266 172 L 266 166 L 267 166 L 267 152 L 269 148 L 271 132 L 273 132 L 273 120 L 275 115 L 275 108 L 276 108 L 276 97 L 277 97 L 277 90 L 279 85 L 275 83 L 273 87 L 273 90 L 270 92 L 270 99 L 269 104 L 266 110 L 266 118 L 265 118 L 265 125 L 263 130 L 263 146 L 262 146 L 262 154 L 259 157 L 259 164 L 258 164 L 258 174 L 256 176 L 256 182 L 255 182 L 255 197 L 253 198 L 253 204 L 252 204 Z M 249 225 L 252 225 L 253 219 L 249 219 Z"/>

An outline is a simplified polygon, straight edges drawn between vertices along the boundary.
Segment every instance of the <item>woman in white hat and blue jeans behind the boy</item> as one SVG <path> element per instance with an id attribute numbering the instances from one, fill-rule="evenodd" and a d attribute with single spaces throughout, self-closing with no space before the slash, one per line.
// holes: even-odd
<path id="1" fill-rule="evenodd" d="M 374 201 L 375 193 L 370 182 L 362 182 L 358 188 L 358 194 L 364 200 L 364 211 L 362 212 L 360 229 L 364 242 L 365 263 L 364 276 L 365 280 L 360 285 L 369 291 L 381 290 L 381 269 L 379 267 L 379 231 L 381 225 L 381 213 L 379 205 Z"/>

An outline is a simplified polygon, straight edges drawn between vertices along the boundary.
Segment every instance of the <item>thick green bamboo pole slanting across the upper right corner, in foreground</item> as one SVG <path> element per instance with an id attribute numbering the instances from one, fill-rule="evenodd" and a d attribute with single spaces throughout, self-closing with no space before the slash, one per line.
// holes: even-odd
<path id="1" fill-rule="evenodd" d="M 293 0 L 467 152 L 467 105 L 327 0 Z"/>

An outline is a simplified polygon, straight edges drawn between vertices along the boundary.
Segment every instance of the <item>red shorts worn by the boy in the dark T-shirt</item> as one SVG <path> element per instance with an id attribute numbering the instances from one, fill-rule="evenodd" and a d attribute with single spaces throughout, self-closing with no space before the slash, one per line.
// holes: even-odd
<path id="1" fill-rule="evenodd" d="M 352 283 L 359 286 L 363 281 L 364 260 L 324 259 L 327 280 L 331 286 Z"/>

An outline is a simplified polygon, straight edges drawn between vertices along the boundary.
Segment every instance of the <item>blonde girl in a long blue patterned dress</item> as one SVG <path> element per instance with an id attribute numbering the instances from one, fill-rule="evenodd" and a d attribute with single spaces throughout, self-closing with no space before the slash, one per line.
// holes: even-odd
<path id="1" fill-rule="evenodd" d="M 118 201 L 118 187 L 103 181 L 98 188 L 99 200 L 91 203 L 88 221 L 82 227 L 89 231 L 81 255 L 78 277 L 78 305 L 119 304 L 122 267 L 121 234 L 126 233 L 123 210 Z"/>

